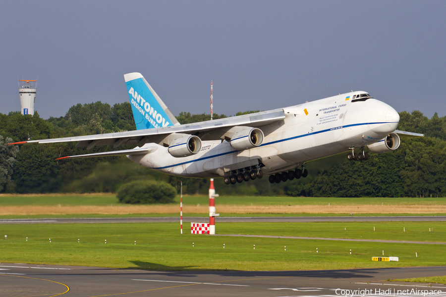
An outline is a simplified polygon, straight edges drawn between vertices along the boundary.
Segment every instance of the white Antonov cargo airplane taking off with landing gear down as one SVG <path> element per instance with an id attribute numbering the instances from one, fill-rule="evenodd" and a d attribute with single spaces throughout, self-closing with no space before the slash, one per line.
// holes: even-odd
<path id="1" fill-rule="evenodd" d="M 363 91 L 181 125 L 140 73 L 125 74 L 124 80 L 137 130 L 14 144 L 77 142 L 88 150 L 136 145 L 58 159 L 126 155 L 169 175 L 223 178 L 228 185 L 264 175 L 272 184 L 305 178 L 309 161 L 343 152 L 348 160 L 367 160 L 366 147 L 384 153 L 399 147 L 399 136 L 424 136 L 396 130 L 396 110 Z"/>

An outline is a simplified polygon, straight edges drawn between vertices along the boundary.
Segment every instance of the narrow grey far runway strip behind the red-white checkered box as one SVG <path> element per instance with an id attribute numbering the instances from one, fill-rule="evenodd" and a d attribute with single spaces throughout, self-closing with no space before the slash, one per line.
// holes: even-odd
<path id="1" fill-rule="evenodd" d="M 156 223 L 178 222 L 178 217 L 0 219 L 0 224 Z M 183 217 L 183 222 L 207 222 L 209 217 Z M 323 217 L 216 217 L 216 222 L 398 222 L 446 221 L 446 216 L 323 216 Z"/>

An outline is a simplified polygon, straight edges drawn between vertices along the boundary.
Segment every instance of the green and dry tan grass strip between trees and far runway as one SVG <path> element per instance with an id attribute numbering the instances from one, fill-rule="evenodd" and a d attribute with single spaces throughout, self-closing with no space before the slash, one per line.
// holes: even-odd
<path id="1" fill-rule="evenodd" d="M 176 203 L 167 205 L 126 205 L 114 194 L 0 195 L 0 217 L 95 217 L 171 216 Z M 209 212 L 207 196 L 183 197 L 183 213 L 197 216 Z M 252 215 L 444 215 L 444 198 L 302 198 L 302 197 L 219 197 L 217 212 L 222 216 Z"/>

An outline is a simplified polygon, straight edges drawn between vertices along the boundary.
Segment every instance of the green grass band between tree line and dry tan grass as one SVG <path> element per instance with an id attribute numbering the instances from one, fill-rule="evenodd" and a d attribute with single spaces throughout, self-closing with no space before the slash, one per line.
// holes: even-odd
<path id="1" fill-rule="evenodd" d="M 218 191 L 217 191 L 218 192 Z M 175 198 L 179 204 L 180 197 Z M 314 198 L 314 197 L 270 197 L 270 196 L 222 196 L 216 198 L 217 204 L 235 205 L 444 205 L 445 198 Z M 121 205 L 115 194 L 52 194 L 52 195 L 0 195 L 0 206 L 12 205 Z M 184 205 L 207 205 L 206 195 L 183 196 Z"/>

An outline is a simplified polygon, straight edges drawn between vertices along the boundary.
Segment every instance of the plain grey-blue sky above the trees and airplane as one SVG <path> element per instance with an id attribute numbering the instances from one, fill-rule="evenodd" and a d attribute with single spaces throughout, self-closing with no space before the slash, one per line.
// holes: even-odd
<path id="1" fill-rule="evenodd" d="M 140 72 L 174 115 L 233 115 L 353 91 L 446 115 L 446 1 L 2 1 L 0 112 L 128 100 Z"/>

